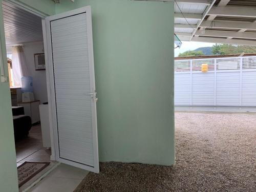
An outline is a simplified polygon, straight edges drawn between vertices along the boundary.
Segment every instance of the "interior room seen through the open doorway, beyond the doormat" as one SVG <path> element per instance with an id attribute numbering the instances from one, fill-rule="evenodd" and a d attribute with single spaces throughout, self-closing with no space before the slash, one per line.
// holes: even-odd
<path id="1" fill-rule="evenodd" d="M 7 2 L 2 7 L 17 167 L 26 161 L 50 162 L 41 18 Z"/>

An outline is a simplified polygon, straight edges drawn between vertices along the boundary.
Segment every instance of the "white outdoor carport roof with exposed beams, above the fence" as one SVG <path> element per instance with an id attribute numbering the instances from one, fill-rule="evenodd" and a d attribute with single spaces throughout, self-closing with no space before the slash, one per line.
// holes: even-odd
<path id="1" fill-rule="evenodd" d="M 256 0 L 176 0 L 175 33 L 183 41 L 256 46 Z"/>

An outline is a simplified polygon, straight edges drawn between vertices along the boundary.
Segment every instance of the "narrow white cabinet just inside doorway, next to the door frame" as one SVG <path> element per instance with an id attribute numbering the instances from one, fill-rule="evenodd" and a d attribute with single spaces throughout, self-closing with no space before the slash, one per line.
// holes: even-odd
<path id="1" fill-rule="evenodd" d="M 42 146 L 51 147 L 48 104 L 40 104 L 39 111 L 40 111 L 40 121 L 41 121 L 41 131 L 42 131 Z"/>

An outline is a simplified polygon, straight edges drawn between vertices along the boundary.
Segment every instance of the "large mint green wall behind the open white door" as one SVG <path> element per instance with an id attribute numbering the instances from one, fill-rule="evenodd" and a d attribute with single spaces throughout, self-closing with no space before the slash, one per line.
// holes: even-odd
<path id="1" fill-rule="evenodd" d="M 172 165 L 174 4 L 62 0 L 91 5 L 100 161 Z"/>

